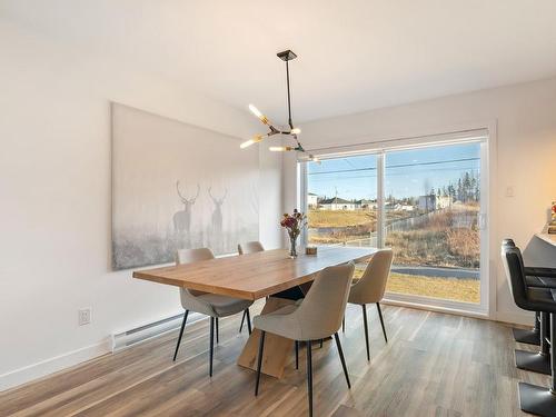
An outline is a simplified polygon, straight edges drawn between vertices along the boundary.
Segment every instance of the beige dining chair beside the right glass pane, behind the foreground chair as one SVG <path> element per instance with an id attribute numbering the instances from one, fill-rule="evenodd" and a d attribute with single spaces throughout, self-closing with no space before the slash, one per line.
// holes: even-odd
<path id="1" fill-rule="evenodd" d="M 386 281 L 390 275 L 393 260 L 391 249 L 380 249 L 370 259 L 363 277 L 351 286 L 349 290 L 348 302 L 357 304 L 363 307 L 363 322 L 365 327 L 365 342 L 367 346 L 367 360 L 370 360 L 369 351 L 369 329 L 367 325 L 367 304 L 375 302 L 377 305 L 378 318 L 383 326 L 383 334 L 386 341 L 386 328 L 384 326 L 383 311 L 380 310 L 380 301 L 384 298 L 386 290 Z M 342 327 L 345 327 L 342 322 Z"/>

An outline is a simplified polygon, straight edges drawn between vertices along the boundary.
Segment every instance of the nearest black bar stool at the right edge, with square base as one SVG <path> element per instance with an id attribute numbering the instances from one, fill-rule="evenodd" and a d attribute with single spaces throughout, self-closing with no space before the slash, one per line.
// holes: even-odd
<path id="1" fill-rule="evenodd" d="M 548 288 L 527 287 L 525 267 L 518 248 L 503 246 L 502 255 L 506 276 L 514 301 L 519 308 L 528 311 L 540 311 L 550 315 L 550 346 L 556 342 L 556 291 Z M 553 296 L 554 292 L 554 296 Z M 543 326 L 543 320 L 540 321 Z M 550 349 L 550 387 L 539 387 L 519 383 L 519 406 L 522 410 L 538 416 L 556 417 L 556 349 Z"/>

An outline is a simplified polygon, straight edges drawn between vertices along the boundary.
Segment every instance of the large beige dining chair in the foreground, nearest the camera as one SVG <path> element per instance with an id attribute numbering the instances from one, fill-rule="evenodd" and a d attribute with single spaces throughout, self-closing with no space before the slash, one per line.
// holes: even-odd
<path id="1" fill-rule="evenodd" d="M 341 326 L 341 319 L 346 310 L 354 269 L 354 262 L 325 268 L 317 276 L 304 299 L 295 305 L 288 305 L 267 315 L 255 317 L 255 328 L 260 330 L 257 383 L 255 386 L 256 396 L 259 394 L 260 368 L 267 331 L 295 341 L 306 341 L 309 416 L 312 416 L 312 340 L 334 335 L 344 375 L 348 388 L 351 388 L 338 329 Z"/>

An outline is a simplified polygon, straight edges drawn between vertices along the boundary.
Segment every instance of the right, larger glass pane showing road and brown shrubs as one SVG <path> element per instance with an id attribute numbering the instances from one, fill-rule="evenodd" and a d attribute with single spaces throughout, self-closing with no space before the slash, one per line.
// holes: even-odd
<path id="1" fill-rule="evenodd" d="M 479 302 L 480 145 L 386 155 L 387 290 Z"/>

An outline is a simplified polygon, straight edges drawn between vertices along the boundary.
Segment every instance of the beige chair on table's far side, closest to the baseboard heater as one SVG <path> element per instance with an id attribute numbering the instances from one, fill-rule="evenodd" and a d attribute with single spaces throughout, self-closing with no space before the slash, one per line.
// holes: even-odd
<path id="1" fill-rule="evenodd" d="M 215 255 L 209 248 L 199 249 L 180 249 L 176 256 L 176 264 L 190 264 L 201 260 L 214 259 Z M 218 294 L 202 292 L 193 289 L 180 288 L 181 306 L 186 310 L 183 314 L 183 321 L 179 330 L 178 344 L 173 354 L 173 360 L 178 356 L 179 344 L 183 329 L 186 328 L 187 316 L 189 311 L 200 312 L 210 317 L 210 367 L 209 376 L 212 376 L 212 355 L 215 347 L 215 321 L 217 326 L 217 342 L 218 342 L 218 318 L 236 315 L 249 308 L 252 301 L 242 300 L 221 296 Z M 250 329 L 249 329 L 250 330 Z M 249 331 L 250 332 L 250 331 Z"/>

